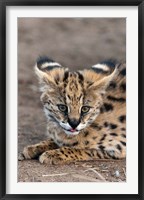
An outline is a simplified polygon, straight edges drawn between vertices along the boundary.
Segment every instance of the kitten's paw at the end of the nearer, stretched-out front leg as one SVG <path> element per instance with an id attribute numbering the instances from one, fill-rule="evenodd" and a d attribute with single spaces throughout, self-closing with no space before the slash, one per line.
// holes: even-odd
<path id="1" fill-rule="evenodd" d="M 64 164 L 66 162 L 66 160 L 57 150 L 49 150 L 44 152 L 39 157 L 39 161 L 40 163 L 53 164 L 53 165 Z"/>

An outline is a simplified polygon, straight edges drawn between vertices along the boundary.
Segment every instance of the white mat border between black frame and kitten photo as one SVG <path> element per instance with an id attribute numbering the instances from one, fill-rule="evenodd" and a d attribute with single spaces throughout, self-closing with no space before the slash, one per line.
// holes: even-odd
<path id="1" fill-rule="evenodd" d="M 20 183 L 17 182 L 17 18 L 125 17 L 127 20 L 127 182 Z M 7 194 L 138 194 L 138 7 L 137 6 L 8 6 L 7 57 Z M 133 37 L 134 36 L 134 37 Z M 14 48 L 13 48 L 14 47 Z M 135 68 L 133 68 L 135 67 Z M 10 99 L 10 101 L 8 101 Z M 135 126 L 131 126 L 134 124 Z M 133 148 L 135 146 L 135 148 Z M 9 148 L 8 148 L 9 147 Z M 131 167 L 132 166 L 132 167 Z"/>

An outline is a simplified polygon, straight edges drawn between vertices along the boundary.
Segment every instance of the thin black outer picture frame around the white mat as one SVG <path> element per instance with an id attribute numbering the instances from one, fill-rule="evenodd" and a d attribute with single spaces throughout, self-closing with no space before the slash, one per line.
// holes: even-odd
<path id="1" fill-rule="evenodd" d="M 7 132 L 7 57 L 6 8 L 7 6 L 138 6 L 138 194 L 7 194 L 6 132 Z M 3 0 L 0 2 L 0 199 L 144 199 L 144 1 L 142 0 Z"/>

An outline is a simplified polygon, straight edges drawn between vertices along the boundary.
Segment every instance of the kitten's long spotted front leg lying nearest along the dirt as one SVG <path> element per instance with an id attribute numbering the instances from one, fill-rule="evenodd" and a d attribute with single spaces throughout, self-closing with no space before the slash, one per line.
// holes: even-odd
<path id="1" fill-rule="evenodd" d="M 89 161 L 99 159 L 120 159 L 123 155 L 114 150 L 101 149 L 76 149 L 61 147 L 44 152 L 39 161 L 45 164 L 65 164 L 74 161 Z"/>

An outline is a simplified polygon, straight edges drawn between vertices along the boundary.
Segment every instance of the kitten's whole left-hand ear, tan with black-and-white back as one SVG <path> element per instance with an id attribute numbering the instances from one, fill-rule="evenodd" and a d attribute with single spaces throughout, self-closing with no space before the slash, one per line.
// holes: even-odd
<path id="1" fill-rule="evenodd" d="M 40 57 L 35 65 L 35 73 L 41 88 L 56 87 L 63 80 L 65 70 L 59 63 L 48 57 Z"/>

